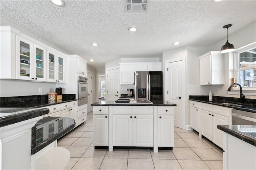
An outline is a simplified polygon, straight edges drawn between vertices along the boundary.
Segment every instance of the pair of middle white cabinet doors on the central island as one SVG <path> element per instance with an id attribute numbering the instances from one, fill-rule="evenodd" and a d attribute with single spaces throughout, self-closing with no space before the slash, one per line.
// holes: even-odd
<path id="1" fill-rule="evenodd" d="M 153 147 L 153 115 L 113 115 L 113 146 Z"/>

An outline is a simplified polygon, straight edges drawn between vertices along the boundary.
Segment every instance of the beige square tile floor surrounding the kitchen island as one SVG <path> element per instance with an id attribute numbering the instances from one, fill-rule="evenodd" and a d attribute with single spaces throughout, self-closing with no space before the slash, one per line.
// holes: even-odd
<path id="1" fill-rule="evenodd" d="M 94 149 L 92 113 L 87 121 L 58 140 L 70 151 L 65 170 L 222 170 L 222 150 L 192 130 L 174 128 L 173 150 Z"/>

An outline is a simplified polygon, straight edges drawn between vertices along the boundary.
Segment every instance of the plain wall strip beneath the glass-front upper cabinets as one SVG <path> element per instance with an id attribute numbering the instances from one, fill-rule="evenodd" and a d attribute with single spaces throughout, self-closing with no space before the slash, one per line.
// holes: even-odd
<path id="1" fill-rule="evenodd" d="M 39 93 L 39 87 L 42 87 L 43 93 Z M 55 83 L 0 80 L 0 97 L 47 95 L 54 91 Z"/>

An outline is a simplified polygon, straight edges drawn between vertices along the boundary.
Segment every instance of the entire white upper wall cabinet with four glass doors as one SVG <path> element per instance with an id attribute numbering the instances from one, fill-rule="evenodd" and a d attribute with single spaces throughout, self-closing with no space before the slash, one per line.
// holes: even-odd
<path id="1" fill-rule="evenodd" d="M 66 57 L 11 26 L 1 26 L 0 79 L 64 83 Z"/>

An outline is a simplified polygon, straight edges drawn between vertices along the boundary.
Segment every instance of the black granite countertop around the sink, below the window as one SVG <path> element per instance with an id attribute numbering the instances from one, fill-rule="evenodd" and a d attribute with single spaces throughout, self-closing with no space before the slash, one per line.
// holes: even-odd
<path id="1" fill-rule="evenodd" d="M 213 101 L 209 101 L 208 96 L 189 96 L 189 100 L 208 103 L 212 105 L 218 105 L 222 107 L 230 107 L 240 111 L 256 113 L 256 100 L 254 99 L 247 99 L 246 103 L 239 103 L 239 98 L 234 98 L 234 97 L 214 96 Z M 231 106 L 231 105 L 220 104 L 221 102 L 234 103 L 234 104 L 239 104 L 241 106 Z"/>

